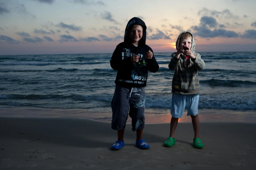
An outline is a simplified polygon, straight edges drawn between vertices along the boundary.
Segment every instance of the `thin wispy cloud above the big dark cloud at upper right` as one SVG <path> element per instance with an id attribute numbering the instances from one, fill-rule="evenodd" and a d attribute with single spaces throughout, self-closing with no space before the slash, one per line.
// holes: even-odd
<path id="1" fill-rule="evenodd" d="M 210 10 L 208 8 L 203 8 L 198 11 L 198 15 L 210 15 L 217 18 L 234 18 L 239 19 L 237 15 L 234 15 L 230 12 L 229 9 L 224 9 L 223 11 Z"/>

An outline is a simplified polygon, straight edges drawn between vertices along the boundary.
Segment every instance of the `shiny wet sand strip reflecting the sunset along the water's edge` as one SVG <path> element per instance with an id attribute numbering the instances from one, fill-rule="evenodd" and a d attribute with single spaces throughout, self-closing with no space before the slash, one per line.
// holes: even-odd
<path id="1" fill-rule="evenodd" d="M 256 122 L 255 110 L 230 110 L 230 109 L 198 109 L 200 122 Z M 191 122 L 187 111 L 179 122 Z M 3 118 L 81 118 L 101 122 L 111 122 L 111 108 L 101 111 L 87 111 L 86 109 L 60 109 L 39 107 L 0 107 L 0 117 Z M 145 123 L 170 123 L 169 109 L 145 108 Z M 131 123 L 128 116 L 127 123 Z"/>

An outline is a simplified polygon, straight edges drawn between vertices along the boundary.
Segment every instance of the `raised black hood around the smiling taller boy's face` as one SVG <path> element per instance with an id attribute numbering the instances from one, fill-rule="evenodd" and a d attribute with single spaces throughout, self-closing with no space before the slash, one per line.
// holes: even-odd
<path id="1" fill-rule="evenodd" d="M 126 28 L 125 28 L 125 38 L 124 38 L 124 42 L 126 45 L 131 46 L 132 42 L 131 39 L 129 37 L 129 33 L 130 30 L 132 29 L 133 25 L 141 25 L 143 27 L 143 35 L 142 38 L 139 41 L 139 46 L 143 47 L 146 44 L 146 24 L 144 21 L 142 21 L 142 19 L 137 18 L 137 17 L 133 17 L 132 19 L 130 19 L 130 21 L 128 21 Z"/>

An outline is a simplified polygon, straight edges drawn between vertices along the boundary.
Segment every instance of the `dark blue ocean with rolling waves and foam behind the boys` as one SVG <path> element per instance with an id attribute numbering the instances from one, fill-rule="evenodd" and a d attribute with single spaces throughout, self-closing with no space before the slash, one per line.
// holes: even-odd
<path id="1" fill-rule="evenodd" d="M 256 52 L 199 52 L 199 109 L 256 110 Z M 155 53 L 160 66 L 148 74 L 145 108 L 170 109 L 172 53 Z M 0 107 L 111 110 L 117 71 L 112 54 L 0 56 Z"/>

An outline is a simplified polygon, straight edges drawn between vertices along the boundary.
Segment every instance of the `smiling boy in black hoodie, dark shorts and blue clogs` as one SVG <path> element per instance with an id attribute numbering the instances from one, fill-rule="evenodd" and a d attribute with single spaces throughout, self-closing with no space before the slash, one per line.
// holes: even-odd
<path id="1" fill-rule="evenodd" d="M 115 79 L 115 92 L 111 102 L 111 128 L 117 130 L 118 140 L 112 150 L 121 149 L 124 143 L 124 130 L 129 116 L 132 119 L 132 131 L 136 131 L 136 146 L 148 149 L 142 138 L 145 124 L 145 91 L 147 71 L 157 72 L 159 65 L 153 50 L 146 45 L 146 25 L 140 18 L 128 21 L 124 42 L 116 46 L 110 65 L 118 70 Z"/>

